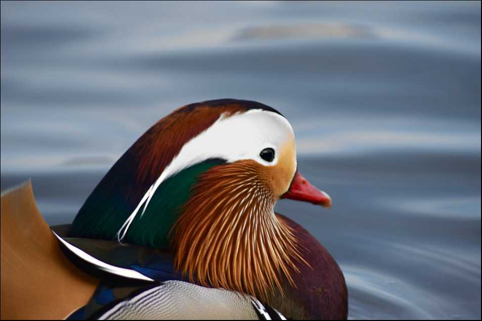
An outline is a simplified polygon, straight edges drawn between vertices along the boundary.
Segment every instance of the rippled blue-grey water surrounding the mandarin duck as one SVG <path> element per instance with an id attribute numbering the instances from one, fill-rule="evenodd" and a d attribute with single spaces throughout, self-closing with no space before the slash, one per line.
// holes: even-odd
<path id="1" fill-rule="evenodd" d="M 349 318 L 480 319 L 480 2 L 2 2 L 1 188 L 72 221 L 173 109 L 280 110 Z"/>

